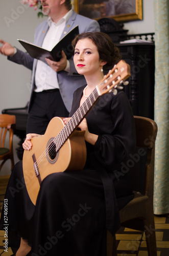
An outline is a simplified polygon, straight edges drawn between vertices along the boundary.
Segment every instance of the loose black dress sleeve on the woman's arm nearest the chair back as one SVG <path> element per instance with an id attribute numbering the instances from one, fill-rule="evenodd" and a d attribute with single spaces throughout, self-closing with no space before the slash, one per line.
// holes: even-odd
<path id="1" fill-rule="evenodd" d="M 120 162 L 125 161 L 135 150 L 136 137 L 133 113 L 125 93 L 119 92 L 113 96 L 110 106 L 112 131 L 99 134 L 93 152 L 95 159 L 105 168 L 118 168 Z M 108 121 L 103 126 L 109 127 Z"/>

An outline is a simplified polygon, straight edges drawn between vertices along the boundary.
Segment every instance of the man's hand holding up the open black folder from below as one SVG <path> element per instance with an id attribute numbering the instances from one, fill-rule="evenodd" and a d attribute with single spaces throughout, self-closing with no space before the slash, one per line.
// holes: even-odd
<path id="1" fill-rule="evenodd" d="M 53 61 L 49 58 L 45 58 L 47 64 L 55 71 L 55 72 L 59 72 L 61 70 L 65 70 L 66 65 L 67 65 L 67 58 L 66 58 L 66 54 L 64 53 L 64 51 L 62 50 L 62 57 L 60 59 L 60 61 Z"/>

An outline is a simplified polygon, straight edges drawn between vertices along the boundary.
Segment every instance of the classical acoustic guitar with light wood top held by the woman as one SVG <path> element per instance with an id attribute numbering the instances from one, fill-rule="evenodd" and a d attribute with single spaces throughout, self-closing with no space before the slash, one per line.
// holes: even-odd
<path id="1" fill-rule="evenodd" d="M 121 84 L 127 84 L 124 81 L 129 76 L 130 66 L 120 60 L 65 125 L 63 118 L 54 117 L 42 137 L 31 139 L 32 149 L 23 153 L 23 175 L 33 204 L 36 204 L 40 183 L 47 175 L 83 169 L 86 146 L 84 131 L 78 131 L 78 125 L 103 94 L 116 94 L 116 88 L 123 89 Z"/>

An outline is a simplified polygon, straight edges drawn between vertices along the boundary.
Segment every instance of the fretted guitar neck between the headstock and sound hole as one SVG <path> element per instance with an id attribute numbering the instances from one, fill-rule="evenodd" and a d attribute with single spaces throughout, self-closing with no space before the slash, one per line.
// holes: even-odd
<path id="1" fill-rule="evenodd" d="M 56 144 L 56 151 L 59 151 L 64 142 L 77 129 L 81 121 L 85 118 L 100 96 L 101 95 L 96 87 L 85 102 L 80 106 L 80 108 L 75 112 L 75 114 L 70 118 L 70 120 L 65 124 L 60 133 L 55 137 L 54 143 Z"/>

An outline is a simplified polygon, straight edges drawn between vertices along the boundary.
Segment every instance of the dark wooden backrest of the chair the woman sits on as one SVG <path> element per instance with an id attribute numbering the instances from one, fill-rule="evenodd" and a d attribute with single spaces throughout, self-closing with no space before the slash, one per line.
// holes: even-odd
<path id="1" fill-rule="evenodd" d="M 154 190 L 154 156 L 155 156 L 155 141 L 157 136 L 157 124 L 154 120 L 146 117 L 134 116 L 136 129 L 136 146 L 147 152 L 144 191 L 153 200 Z"/>

